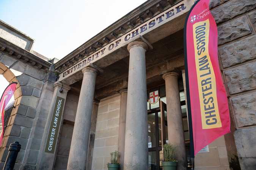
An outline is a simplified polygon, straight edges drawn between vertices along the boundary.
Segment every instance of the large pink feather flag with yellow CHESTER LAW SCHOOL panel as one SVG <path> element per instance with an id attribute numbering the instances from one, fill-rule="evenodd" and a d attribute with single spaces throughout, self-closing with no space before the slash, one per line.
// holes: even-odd
<path id="1" fill-rule="evenodd" d="M 209 2 L 198 0 L 184 27 L 188 114 L 195 154 L 230 132 L 228 101 L 218 65 L 217 26 Z"/>

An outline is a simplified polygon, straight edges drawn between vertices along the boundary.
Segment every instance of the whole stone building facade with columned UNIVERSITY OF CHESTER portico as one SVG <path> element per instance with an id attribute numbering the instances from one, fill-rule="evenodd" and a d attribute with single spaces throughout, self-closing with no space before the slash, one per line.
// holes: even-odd
<path id="1" fill-rule="evenodd" d="M 33 39 L 0 22 L 0 74 L 18 83 L 0 166 L 9 144 L 19 141 L 15 169 L 105 170 L 118 150 L 120 169 L 159 170 L 168 141 L 178 145 L 177 169 L 190 169 L 183 29 L 193 3 L 149 0 L 59 61 L 36 53 Z M 196 154 L 195 169 L 252 170 L 256 3 L 212 0 L 210 11 L 231 133 Z M 153 91 L 157 104 L 147 102 Z"/>

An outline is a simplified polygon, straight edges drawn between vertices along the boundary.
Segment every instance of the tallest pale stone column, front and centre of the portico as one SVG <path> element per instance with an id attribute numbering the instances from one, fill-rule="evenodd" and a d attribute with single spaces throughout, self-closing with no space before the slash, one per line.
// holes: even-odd
<path id="1" fill-rule="evenodd" d="M 130 52 L 124 170 L 148 170 L 148 114 L 145 53 L 141 41 L 127 46 Z"/>

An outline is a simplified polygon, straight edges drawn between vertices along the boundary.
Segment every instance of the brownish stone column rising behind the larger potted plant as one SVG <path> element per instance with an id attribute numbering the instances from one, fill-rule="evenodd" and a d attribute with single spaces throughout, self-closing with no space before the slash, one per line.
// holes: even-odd
<path id="1" fill-rule="evenodd" d="M 181 114 L 178 77 L 179 74 L 176 72 L 163 74 L 166 88 L 168 142 L 177 145 L 177 170 L 185 170 L 187 169 L 187 156 Z"/>

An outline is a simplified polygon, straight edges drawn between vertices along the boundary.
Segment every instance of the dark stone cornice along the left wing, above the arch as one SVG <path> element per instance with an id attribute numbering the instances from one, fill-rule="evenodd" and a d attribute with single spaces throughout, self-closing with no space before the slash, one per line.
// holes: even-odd
<path id="1" fill-rule="evenodd" d="M 30 64 L 31 66 L 46 72 L 49 71 L 49 68 L 52 65 L 52 63 L 43 60 L 29 51 L 22 49 L 2 38 L 0 38 L 0 52 L 8 54 L 17 60 Z"/>

